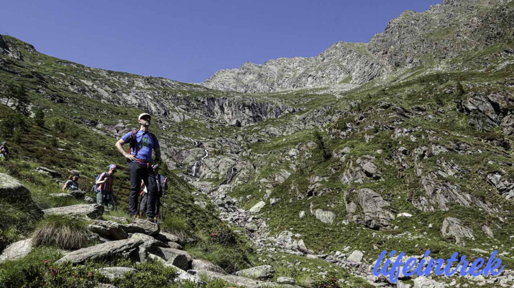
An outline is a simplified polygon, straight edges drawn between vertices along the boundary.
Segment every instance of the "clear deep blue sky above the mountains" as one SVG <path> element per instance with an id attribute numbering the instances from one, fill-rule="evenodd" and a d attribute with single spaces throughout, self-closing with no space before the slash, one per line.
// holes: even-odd
<path id="1" fill-rule="evenodd" d="M 246 61 L 368 42 L 442 0 L 2 1 L 0 34 L 86 66 L 200 82 Z"/>

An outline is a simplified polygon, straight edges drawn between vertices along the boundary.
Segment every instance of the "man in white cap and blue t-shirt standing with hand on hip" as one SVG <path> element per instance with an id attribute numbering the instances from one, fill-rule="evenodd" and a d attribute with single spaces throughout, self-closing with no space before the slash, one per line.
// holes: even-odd
<path id="1" fill-rule="evenodd" d="M 148 190 L 148 204 L 146 209 L 146 220 L 156 222 L 155 215 L 157 205 L 157 182 L 152 170 L 152 164 L 160 162 L 159 141 L 154 134 L 148 131 L 151 116 L 142 113 L 138 117 L 141 127 L 139 130 L 132 130 L 125 134 L 116 142 L 116 149 L 127 158 L 128 173 L 130 173 L 130 194 L 128 194 L 128 213 L 133 222 L 138 217 L 138 198 L 141 190 L 141 180 L 143 180 Z M 128 143 L 128 153 L 123 149 L 123 145 Z M 155 160 L 152 160 L 152 151 L 155 151 Z"/>

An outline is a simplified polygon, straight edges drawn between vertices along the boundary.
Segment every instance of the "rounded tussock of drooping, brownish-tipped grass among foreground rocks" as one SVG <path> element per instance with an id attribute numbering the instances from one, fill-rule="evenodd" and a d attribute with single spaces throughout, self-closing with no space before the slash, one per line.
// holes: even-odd
<path id="1" fill-rule="evenodd" d="M 45 217 L 32 236 L 34 246 L 56 245 L 61 249 L 78 249 L 87 246 L 87 223 L 77 218 L 49 215 Z"/>

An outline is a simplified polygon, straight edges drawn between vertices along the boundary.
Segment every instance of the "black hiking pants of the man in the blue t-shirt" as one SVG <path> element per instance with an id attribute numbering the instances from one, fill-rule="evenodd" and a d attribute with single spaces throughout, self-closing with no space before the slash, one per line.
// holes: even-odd
<path id="1" fill-rule="evenodd" d="M 130 174 L 130 194 L 128 194 L 128 213 L 130 216 L 138 214 L 138 200 L 141 192 L 141 180 L 143 180 L 148 197 L 146 199 L 146 217 L 154 218 L 157 216 L 157 181 L 155 181 L 152 168 L 146 168 L 146 164 L 137 162 L 128 163 L 128 173 Z"/>

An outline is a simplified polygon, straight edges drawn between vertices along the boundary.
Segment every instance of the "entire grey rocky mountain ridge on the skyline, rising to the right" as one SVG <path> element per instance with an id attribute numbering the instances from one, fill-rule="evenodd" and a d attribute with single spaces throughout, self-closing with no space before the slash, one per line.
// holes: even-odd
<path id="1" fill-rule="evenodd" d="M 271 92 L 363 84 L 395 70 L 437 66 L 465 51 L 513 37 L 511 1 L 455 0 L 425 12 L 403 12 L 369 43 L 338 42 L 315 57 L 245 63 L 216 72 L 201 85 L 239 92 Z"/>

